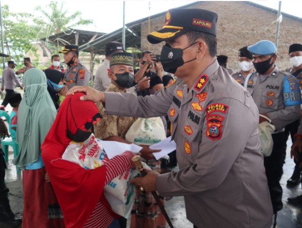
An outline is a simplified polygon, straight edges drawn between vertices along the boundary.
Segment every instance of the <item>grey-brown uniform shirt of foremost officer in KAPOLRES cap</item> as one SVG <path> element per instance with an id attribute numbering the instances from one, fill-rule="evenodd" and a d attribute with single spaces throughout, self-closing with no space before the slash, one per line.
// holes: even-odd
<path id="1" fill-rule="evenodd" d="M 127 96 L 126 96 L 127 95 Z M 156 177 L 161 196 L 184 196 L 199 228 L 269 228 L 272 204 L 250 93 L 215 60 L 189 90 L 182 79 L 151 96 L 107 93 L 106 113 L 168 115 L 178 172 Z"/>

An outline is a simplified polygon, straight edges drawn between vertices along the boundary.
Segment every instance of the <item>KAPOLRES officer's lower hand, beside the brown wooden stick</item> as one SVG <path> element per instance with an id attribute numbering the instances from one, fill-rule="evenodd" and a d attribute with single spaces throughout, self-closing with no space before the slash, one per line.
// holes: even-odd
<path id="1" fill-rule="evenodd" d="M 152 170 L 145 170 L 147 175 L 144 177 L 137 177 L 130 180 L 130 183 L 142 187 L 144 191 L 156 191 L 156 176 L 159 174 Z"/>

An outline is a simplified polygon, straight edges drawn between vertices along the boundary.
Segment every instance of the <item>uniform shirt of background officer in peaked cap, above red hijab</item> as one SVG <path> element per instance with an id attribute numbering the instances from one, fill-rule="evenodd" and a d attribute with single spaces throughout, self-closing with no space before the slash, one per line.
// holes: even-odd
<path id="1" fill-rule="evenodd" d="M 68 89 L 73 86 L 87 86 L 90 80 L 90 73 L 81 61 L 77 60 L 72 67 L 67 69 L 64 80 L 70 82 Z"/>

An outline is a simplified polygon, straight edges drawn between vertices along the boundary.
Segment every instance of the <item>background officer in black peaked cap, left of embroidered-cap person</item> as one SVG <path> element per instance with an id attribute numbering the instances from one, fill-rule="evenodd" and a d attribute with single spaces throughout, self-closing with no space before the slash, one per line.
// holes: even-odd
<path id="1" fill-rule="evenodd" d="M 65 64 L 68 69 L 65 72 L 65 85 L 68 89 L 73 86 L 86 86 L 90 80 L 90 73 L 87 68 L 78 59 L 78 46 L 65 45 L 62 51 L 64 53 Z"/>

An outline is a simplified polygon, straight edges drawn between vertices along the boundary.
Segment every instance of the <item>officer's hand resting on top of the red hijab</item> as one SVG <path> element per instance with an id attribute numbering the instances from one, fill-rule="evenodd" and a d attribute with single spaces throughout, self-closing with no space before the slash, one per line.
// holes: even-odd
<path id="1" fill-rule="evenodd" d="M 74 86 L 68 90 L 66 95 L 71 95 L 76 92 L 86 93 L 85 96 L 80 96 L 80 100 L 91 100 L 93 102 L 105 102 L 105 93 L 97 91 L 89 86 Z"/>

